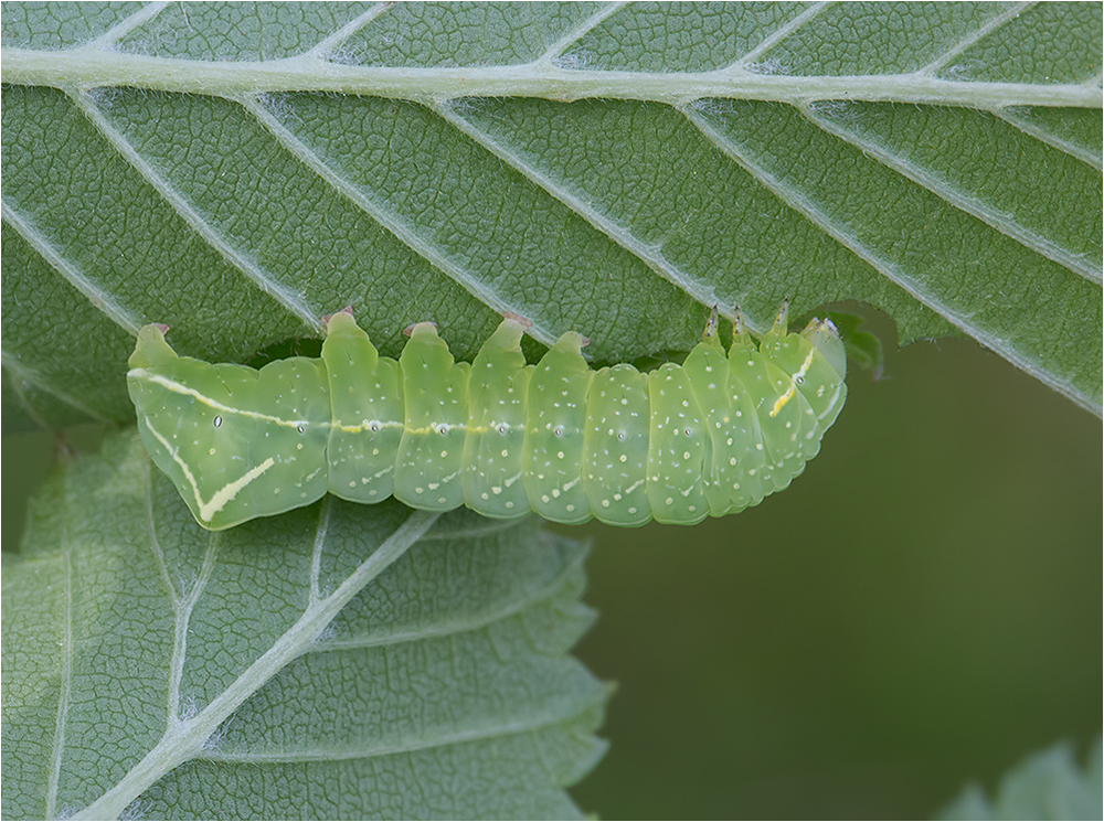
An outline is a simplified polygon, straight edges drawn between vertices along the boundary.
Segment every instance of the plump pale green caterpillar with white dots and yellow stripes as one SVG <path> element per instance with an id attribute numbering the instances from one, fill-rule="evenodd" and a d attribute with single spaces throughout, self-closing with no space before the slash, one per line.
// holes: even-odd
<path id="1" fill-rule="evenodd" d="M 789 485 L 847 396 L 829 320 L 758 344 L 739 316 L 728 353 L 716 309 L 681 365 L 593 371 L 567 332 L 535 365 L 507 314 L 475 361 L 434 323 L 380 356 L 347 308 L 323 318 L 320 359 L 259 371 L 178 356 L 144 327 L 127 384 L 142 441 L 205 529 L 307 505 L 394 495 L 416 509 L 561 523 L 691 525 Z"/>

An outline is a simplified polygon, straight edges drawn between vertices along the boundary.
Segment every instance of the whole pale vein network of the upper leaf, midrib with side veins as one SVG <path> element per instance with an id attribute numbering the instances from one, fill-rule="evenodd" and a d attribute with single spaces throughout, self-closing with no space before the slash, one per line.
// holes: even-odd
<path id="1" fill-rule="evenodd" d="M 524 158 L 518 156 L 517 152 L 498 146 L 492 136 L 481 134 L 474 124 L 461 117 L 449 103 L 465 96 L 518 96 L 556 100 L 605 97 L 658 102 L 673 105 L 704 134 L 707 139 L 715 142 L 715 136 L 710 135 L 709 129 L 703 128 L 700 119 L 694 116 L 694 100 L 703 97 L 773 100 L 795 105 L 814 125 L 857 146 L 862 141 L 858 140 L 854 135 L 839 134 L 837 129 L 827 128 L 826 122 L 816 116 L 813 104 L 826 99 L 851 99 L 960 105 L 989 110 L 1006 119 L 1009 115 L 1008 109 L 1018 106 L 1100 108 L 1102 105 L 1098 76 L 1066 84 L 978 83 L 941 79 L 935 76 L 964 51 L 1009 21 L 1015 20 L 1030 3 L 1009 7 L 980 26 L 966 31 L 955 43 L 949 44 L 917 71 L 899 75 L 863 76 L 771 76 L 757 73 L 756 70 L 762 68 L 756 63 L 760 55 L 816 18 L 827 7 L 826 3 L 809 6 L 800 14 L 778 26 L 753 49 L 736 56 L 729 65 L 709 72 L 593 71 L 564 68 L 558 63 L 573 43 L 580 42 L 587 32 L 617 13 L 624 3 L 602 6 L 594 14 L 565 32 L 533 61 L 509 66 L 351 66 L 328 60 L 350 36 L 385 13 L 390 8 L 388 3 L 378 3 L 371 7 L 323 38 L 315 46 L 300 54 L 280 60 L 262 62 L 192 61 L 115 51 L 120 40 L 148 23 L 167 6 L 167 3 L 145 6 L 99 36 L 67 50 L 7 49 L 4 50 L 3 64 L 0 66 L 2 79 L 18 84 L 54 86 L 65 90 L 74 105 L 82 109 L 85 116 L 113 142 L 116 150 L 119 150 L 128 162 L 158 189 L 162 196 L 172 204 L 174 211 L 181 214 L 209 244 L 215 247 L 229 263 L 242 270 L 246 277 L 282 303 L 285 310 L 300 319 L 308 329 L 316 331 L 315 313 L 317 312 L 307 306 L 299 295 L 280 284 L 278 278 L 254 265 L 247 254 L 240 253 L 232 243 L 223 238 L 219 231 L 208 223 L 203 215 L 191 209 L 187 200 L 176 193 L 171 183 L 161 180 L 157 171 L 148 167 L 144 158 L 137 152 L 127 150 L 126 139 L 115 131 L 107 118 L 98 110 L 93 98 L 87 94 L 89 88 L 104 85 L 139 86 L 168 92 L 197 92 L 234 100 L 251 111 L 276 137 L 277 141 L 284 143 L 285 148 L 290 150 L 300 162 L 326 179 L 339 193 L 354 202 L 376 222 L 388 227 L 408 247 L 427 259 L 431 265 L 497 311 L 516 310 L 517 307 L 505 305 L 499 296 L 489 291 L 478 277 L 464 270 L 463 267 L 458 267 L 446 254 L 423 241 L 416 231 L 405 226 L 401 220 L 393 218 L 395 215 L 392 215 L 386 209 L 374 202 L 365 202 L 364 193 L 355 186 L 347 184 L 340 174 L 329 169 L 321 158 L 314 157 L 309 150 L 305 156 L 299 150 L 305 147 L 299 146 L 298 138 L 290 131 L 284 134 L 283 125 L 265 106 L 263 94 L 291 90 L 342 92 L 410 99 L 426 104 L 455 128 L 467 134 L 482 148 L 511 164 L 550 196 L 564 203 L 614 243 L 641 259 L 655 274 L 673 282 L 703 305 L 720 303 L 721 301 L 712 297 L 708 286 L 699 282 L 693 276 L 680 271 L 677 266 L 667 261 L 658 252 L 652 253 L 650 247 L 636 242 L 631 232 L 623 229 L 615 221 L 607 220 L 605 215 L 594 210 L 581 207 L 582 201 L 574 196 L 570 190 L 563 189 L 555 181 L 548 179 L 546 175 L 540 173 L 539 169 L 530 168 Z M 295 145 L 288 145 L 288 136 Z M 1034 136 L 1045 140 L 1045 135 L 1037 134 Z M 1053 140 L 1048 141 L 1054 143 Z M 866 146 L 860 146 L 860 148 L 869 149 Z M 1070 148 L 1064 145 L 1059 148 L 1072 153 Z M 731 150 L 725 151 L 725 153 L 732 159 Z M 312 159 L 315 162 L 311 162 Z M 1049 257 L 1091 281 L 1100 281 L 1100 270 L 1092 263 L 1071 256 L 1068 249 L 1049 242 L 1045 237 L 1023 229 L 1022 226 L 1015 223 L 1015 220 L 1009 220 L 1006 215 L 989 213 L 984 202 L 975 202 L 975 199 L 972 198 L 956 196 L 955 191 L 946 190 L 945 185 L 937 184 L 941 181 L 930 179 L 928 174 L 906 173 L 899 168 L 899 163 L 894 162 L 900 158 L 879 157 L 879 159 L 894 168 L 899 173 L 903 173 L 917 184 L 933 191 L 955 207 L 972 213 L 998 232 L 1012 236 L 1021 245 Z M 1079 159 L 1084 160 L 1085 158 L 1079 157 Z M 1092 159 L 1085 161 L 1091 162 Z M 1098 164 L 1098 160 L 1096 162 Z M 764 183 L 760 175 L 753 173 L 753 177 Z M 766 185 L 766 188 L 773 190 L 771 185 Z M 809 218 L 809 214 L 800 209 L 798 211 Z M 4 216 L 12 220 L 19 215 L 11 212 L 6 204 Z M 817 220 L 814 218 L 813 222 L 825 229 L 825 226 Z M 893 273 L 887 270 L 884 265 L 879 265 L 879 260 L 868 258 L 850 244 L 841 241 L 837 234 L 830 231 L 828 233 L 837 242 L 842 242 L 845 246 L 867 259 L 883 276 L 898 286 L 904 287 L 922 305 L 942 314 L 983 344 L 997 350 L 1018 367 L 1041 378 L 1083 407 L 1100 414 L 1100 407 L 1092 397 L 1086 397 L 1084 392 L 1079 391 L 1069 381 L 1058 378 L 1030 359 L 1025 359 L 1015 350 L 1015 344 L 1007 345 L 1002 344 L 1000 340 L 988 339 L 977 329 L 969 327 L 955 312 L 948 313 L 940 300 L 933 300 L 931 295 L 910 289 L 909 285 L 902 282 L 900 277 L 894 277 Z M 55 268 L 60 268 L 57 260 L 51 258 L 50 248 L 35 247 Z M 73 271 L 64 270 L 64 267 L 61 267 L 60 270 L 66 276 L 66 279 L 78 288 L 86 285 L 79 271 L 74 275 Z M 132 320 L 129 316 L 126 316 L 121 310 L 113 312 L 110 309 L 115 308 L 114 305 L 103 303 L 99 300 L 100 295 L 88 293 L 87 288 L 82 290 L 85 290 L 93 302 L 102 305 L 106 309 L 105 312 L 117 324 L 127 328 L 131 333 L 134 332 L 134 328 L 130 328 Z M 721 309 L 725 316 L 731 314 L 731 307 L 721 306 Z M 751 318 L 751 320 L 752 325 L 757 327 L 755 318 Z M 531 329 L 530 333 L 545 344 L 549 344 L 555 337 L 553 329 L 544 328 L 539 323 Z"/>

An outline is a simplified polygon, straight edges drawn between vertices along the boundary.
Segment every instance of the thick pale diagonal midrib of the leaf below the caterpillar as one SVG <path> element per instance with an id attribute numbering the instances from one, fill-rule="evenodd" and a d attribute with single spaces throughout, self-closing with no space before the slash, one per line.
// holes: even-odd
<path id="1" fill-rule="evenodd" d="M 179 765 L 199 754 L 206 740 L 250 696 L 275 673 L 306 651 L 346 606 L 369 583 L 405 554 L 440 516 L 415 511 L 372 555 L 326 599 L 304 611 L 273 647 L 250 665 L 203 711 L 185 720 L 173 720 L 161 740 L 115 787 L 71 819 L 117 819 L 142 791 Z"/>

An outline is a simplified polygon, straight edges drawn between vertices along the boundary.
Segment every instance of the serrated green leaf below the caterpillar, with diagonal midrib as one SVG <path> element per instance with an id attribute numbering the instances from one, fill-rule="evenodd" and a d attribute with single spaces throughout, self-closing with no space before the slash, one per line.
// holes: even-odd
<path id="1" fill-rule="evenodd" d="M 4 818 L 565 818 L 607 688 L 580 543 L 320 505 L 205 532 L 132 431 L 3 575 Z"/>

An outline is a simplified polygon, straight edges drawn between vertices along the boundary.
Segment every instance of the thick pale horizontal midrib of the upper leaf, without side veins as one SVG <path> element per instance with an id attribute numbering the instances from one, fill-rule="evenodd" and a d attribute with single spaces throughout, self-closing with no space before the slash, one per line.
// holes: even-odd
<path id="1" fill-rule="evenodd" d="M 95 47 L 62 52 L 6 49 L 0 79 L 29 86 L 86 89 L 136 86 L 235 97 L 265 92 L 340 92 L 439 103 L 456 97 L 591 97 L 686 105 L 703 97 L 807 104 L 861 99 L 1001 108 L 1101 108 L 1098 88 L 1074 83 L 946 81 L 923 73 L 849 77 L 760 74 L 739 64 L 710 72 L 611 72 L 517 66 L 399 67 L 331 63 L 309 54 L 266 62 L 150 57 Z"/>

